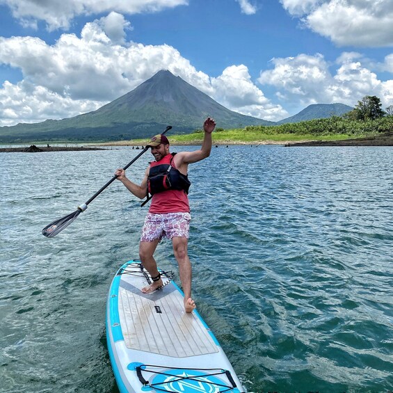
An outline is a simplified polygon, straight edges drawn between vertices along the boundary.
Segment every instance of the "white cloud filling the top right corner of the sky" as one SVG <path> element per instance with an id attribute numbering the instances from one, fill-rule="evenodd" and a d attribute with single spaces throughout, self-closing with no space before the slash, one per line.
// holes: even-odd
<path id="1" fill-rule="evenodd" d="M 312 31 L 339 46 L 393 45 L 392 0 L 280 0 Z"/>

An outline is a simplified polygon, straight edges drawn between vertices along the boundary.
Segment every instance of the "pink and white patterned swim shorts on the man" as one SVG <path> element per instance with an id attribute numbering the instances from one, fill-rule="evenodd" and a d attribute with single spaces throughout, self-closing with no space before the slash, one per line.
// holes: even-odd
<path id="1" fill-rule="evenodd" d="M 141 241 L 172 239 L 185 237 L 189 239 L 191 214 L 189 213 L 147 213 L 145 225 L 141 234 Z"/>

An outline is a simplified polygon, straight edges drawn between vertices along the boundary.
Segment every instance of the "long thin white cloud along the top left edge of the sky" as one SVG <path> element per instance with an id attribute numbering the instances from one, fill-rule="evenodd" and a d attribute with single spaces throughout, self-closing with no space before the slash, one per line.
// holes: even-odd
<path id="1" fill-rule="evenodd" d="M 165 8 L 188 5 L 189 0 L 1 0 L 10 7 L 13 17 L 24 26 L 37 26 L 38 20 L 47 23 L 49 31 L 69 29 L 77 15 L 111 13 L 126 15 L 159 12 Z"/>

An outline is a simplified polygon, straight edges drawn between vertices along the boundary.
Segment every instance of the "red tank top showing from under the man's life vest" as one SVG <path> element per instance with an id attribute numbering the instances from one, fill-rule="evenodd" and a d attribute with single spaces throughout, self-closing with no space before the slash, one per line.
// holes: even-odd
<path id="1" fill-rule="evenodd" d="M 172 161 L 172 166 L 176 168 L 175 160 Z M 189 212 L 189 197 L 183 190 L 166 190 L 152 196 L 149 213 L 165 214 Z"/>

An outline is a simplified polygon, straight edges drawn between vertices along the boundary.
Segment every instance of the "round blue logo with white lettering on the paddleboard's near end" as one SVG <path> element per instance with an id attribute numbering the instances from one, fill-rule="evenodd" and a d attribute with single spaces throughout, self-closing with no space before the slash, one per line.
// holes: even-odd
<path id="1" fill-rule="evenodd" d="M 173 374 L 168 376 L 168 374 Z M 225 383 L 200 371 L 170 370 L 152 380 L 152 387 L 175 393 L 219 393 Z"/>

